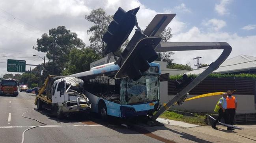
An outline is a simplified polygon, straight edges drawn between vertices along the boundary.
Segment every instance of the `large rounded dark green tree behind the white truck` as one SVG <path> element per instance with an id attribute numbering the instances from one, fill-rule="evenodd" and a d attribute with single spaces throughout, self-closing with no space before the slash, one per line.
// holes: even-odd
<path id="1" fill-rule="evenodd" d="M 71 32 L 65 26 L 58 26 L 49 30 L 49 35 L 44 33 L 37 39 L 37 47 L 33 49 L 47 53 L 47 58 L 63 70 L 68 61 L 67 55 L 72 49 L 84 48 L 85 44 L 77 37 L 77 33 Z"/>

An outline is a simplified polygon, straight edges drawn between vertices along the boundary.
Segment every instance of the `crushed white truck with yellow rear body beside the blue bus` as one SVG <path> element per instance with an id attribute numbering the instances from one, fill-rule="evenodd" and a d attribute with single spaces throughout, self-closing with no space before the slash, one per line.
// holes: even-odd
<path id="1" fill-rule="evenodd" d="M 91 103 L 82 93 L 83 83 L 74 76 L 49 75 L 36 96 L 37 110 L 52 109 L 59 119 L 71 113 L 88 111 Z"/>

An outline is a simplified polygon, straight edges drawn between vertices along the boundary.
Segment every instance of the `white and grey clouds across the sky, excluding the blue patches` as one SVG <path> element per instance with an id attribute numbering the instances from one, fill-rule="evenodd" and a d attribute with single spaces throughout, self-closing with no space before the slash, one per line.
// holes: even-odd
<path id="1" fill-rule="evenodd" d="M 56 28 L 59 25 L 65 25 L 67 29 L 76 32 L 78 37 L 81 38 L 87 45 L 89 44 L 89 36 L 87 35 L 86 31 L 92 24 L 84 19 L 84 15 L 89 14 L 92 9 L 102 7 L 108 14 L 114 14 L 118 7 L 122 7 L 125 11 L 128 11 L 129 9 L 140 6 L 140 10 L 137 13 L 137 19 L 138 24 L 142 29 L 145 29 L 153 17 L 156 14 L 159 14 L 159 12 L 149 9 L 145 5 L 141 4 L 138 0 L 35 0 L 33 2 L 30 0 L 2 0 L 0 1 L 0 5 L 1 8 L 6 9 L 6 11 L 9 13 L 21 18 L 29 24 L 43 29 L 44 32 L 47 32 L 48 29 Z M 16 6 L 13 7 L 13 5 Z M 184 7 L 186 6 L 184 5 Z M 180 8 L 182 8 L 182 5 Z M 174 9 L 172 9 L 172 11 L 173 10 Z M 166 10 L 164 13 L 172 13 L 172 11 Z M 2 53 L 11 53 L 17 56 L 19 54 L 26 56 L 39 54 L 40 56 L 44 56 L 44 53 L 36 52 L 32 49 L 32 47 L 36 45 L 36 39 L 40 38 L 41 34 L 43 34 L 42 31 L 39 31 L 38 29 L 31 27 L 30 25 L 27 25 L 17 19 L 13 19 L 12 16 L 2 12 L 1 10 L 0 15 L 17 22 L 28 29 L 31 29 L 34 32 L 28 31 L 27 29 L 10 23 L 2 18 L 0 18 L 0 24 L 6 25 L 7 27 L 28 36 L 35 37 L 34 39 L 31 39 L 0 26 L 0 50 Z M 172 28 L 172 33 L 174 34 L 174 37 L 171 38 L 172 42 L 228 42 L 233 47 L 231 57 L 239 54 L 256 56 L 256 53 L 252 52 L 255 51 L 256 47 L 255 35 L 243 37 L 238 36 L 235 33 L 222 32 L 220 30 L 226 25 L 226 22 L 215 19 L 208 20 L 206 23 L 208 23 L 207 26 L 213 26 L 214 30 L 216 31 L 209 31 L 206 33 L 199 27 L 192 27 L 188 31 L 185 31 L 189 24 L 181 21 L 178 16 L 176 16 L 168 25 L 168 27 Z M 133 33 L 131 36 L 132 35 Z M 8 50 L 3 50 L 1 48 Z M 241 50 L 242 48 L 243 50 Z M 219 50 L 176 52 L 172 58 L 174 58 L 174 62 L 185 64 L 189 62 L 194 63 L 193 60 L 191 60 L 192 58 L 203 56 L 203 58 L 200 59 L 202 63 L 211 63 L 219 56 L 220 53 L 221 51 Z M 0 62 L 4 61 L 6 60 L 0 58 Z M 42 61 L 40 59 L 28 60 L 28 63 L 39 64 L 42 63 Z M 0 74 L 4 73 L 7 73 L 6 63 L 0 63 Z"/>

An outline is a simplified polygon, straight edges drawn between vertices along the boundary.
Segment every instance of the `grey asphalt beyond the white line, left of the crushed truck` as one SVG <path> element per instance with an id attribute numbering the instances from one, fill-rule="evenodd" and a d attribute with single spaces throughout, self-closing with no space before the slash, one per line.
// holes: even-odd
<path id="1" fill-rule="evenodd" d="M 9 102 L 11 101 L 11 107 L 8 106 Z M 31 126 L 31 125 L 40 125 L 37 121 L 34 121 L 32 119 L 27 119 L 22 117 L 22 114 L 24 116 L 38 119 L 42 122 L 47 123 L 47 125 L 62 125 L 63 123 L 69 123 L 71 125 L 82 125 L 83 123 L 80 123 L 78 120 L 59 120 L 55 116 L 51 116 L 51 110 L 42 110 L 39 111 L 36 109 L 36 105 L 34 105 L 35 96 L 30 99 L 30 94 L 26 92 L 20 92 L 19 96 L 13 97 L 13 98 L 5 98 L 4 100 L 1 100 L 1 112 L 3 112 L 0 117 L 0 126 L 6 126 L 8 114 L 11 113 L 11 126 Z"/>

